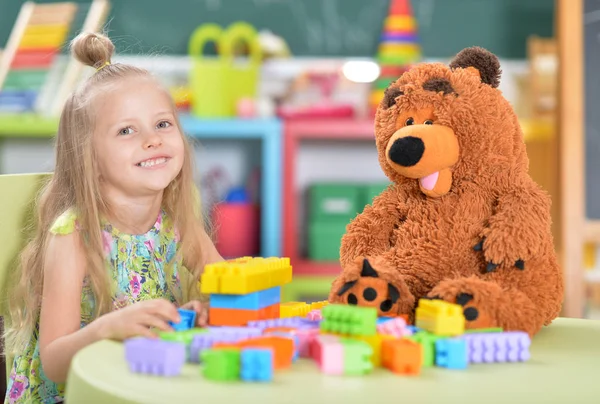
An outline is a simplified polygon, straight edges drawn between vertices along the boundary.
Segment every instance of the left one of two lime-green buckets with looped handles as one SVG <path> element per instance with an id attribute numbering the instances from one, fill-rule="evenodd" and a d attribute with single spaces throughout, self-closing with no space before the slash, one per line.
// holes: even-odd
<path id="1" fill-rule="evenodd" d="M 194 30 L 189 42 L 192 59 L 190 90 L 192 114 L 203 118 L 231 116 L 228 98 L 231 84 L 227 82 L 231 58 L 223 57 L 223 30 L 217 24 L 204 24 Z M 203 55 L 207 43 L 214 42 L 216 57 Z"/>

